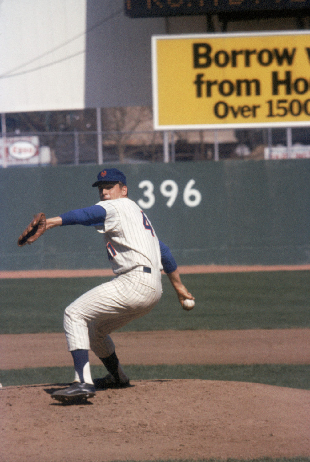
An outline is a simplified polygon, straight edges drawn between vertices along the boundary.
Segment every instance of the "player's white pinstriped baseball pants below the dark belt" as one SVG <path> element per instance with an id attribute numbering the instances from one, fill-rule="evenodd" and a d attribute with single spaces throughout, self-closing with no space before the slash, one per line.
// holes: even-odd
<path id="1" fill-rule="evenodd" d="M 65 310 L 64 329 L 69 351 L 91 349 L 99 358 L 109 356 L 115 350 L 109 334 L 146 315 L 161 294 L 160 272 L 144 273 L 143 267 L 85 292 Z"/>

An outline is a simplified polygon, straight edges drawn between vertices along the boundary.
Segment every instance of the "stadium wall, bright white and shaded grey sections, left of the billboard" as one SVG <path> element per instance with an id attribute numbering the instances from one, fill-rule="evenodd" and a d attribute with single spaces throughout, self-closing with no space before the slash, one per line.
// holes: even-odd
<path id="1" fill-rule="evenodd" d="M 0 112 L 151 104 L 151 36 L 164 18 L 123 10 L 123 0 L 2 0 Z"/>

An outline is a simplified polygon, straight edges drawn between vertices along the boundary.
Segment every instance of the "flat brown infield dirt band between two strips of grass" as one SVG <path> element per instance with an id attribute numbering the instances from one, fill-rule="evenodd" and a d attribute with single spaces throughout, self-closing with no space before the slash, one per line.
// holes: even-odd
<path id="1" fill-rule="evenodd" d="M 310 364 L 310 329 L 164 330 L 111 334 L 123 365 Z M 72 366 L 63 333 L 0 335 L 0 369 Z M 90 351 L 90 362 L 102 365 Z"/>

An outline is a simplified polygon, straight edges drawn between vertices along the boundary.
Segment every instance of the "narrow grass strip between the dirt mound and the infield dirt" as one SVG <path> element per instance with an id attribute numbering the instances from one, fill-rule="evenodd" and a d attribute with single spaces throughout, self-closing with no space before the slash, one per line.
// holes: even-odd
<path id="1" fill-rule="evenodd" d="M 228 380 L 310 389 L 310 365 L 128 365 L 124 370 L 131 380 Z M 0 383 L 3 386 L 70 383 L 73 372 L 73 366 L 2 370 Z M 103 377 L 106 372 L 104 366 L 91 366 L 92 377 Z"/>

